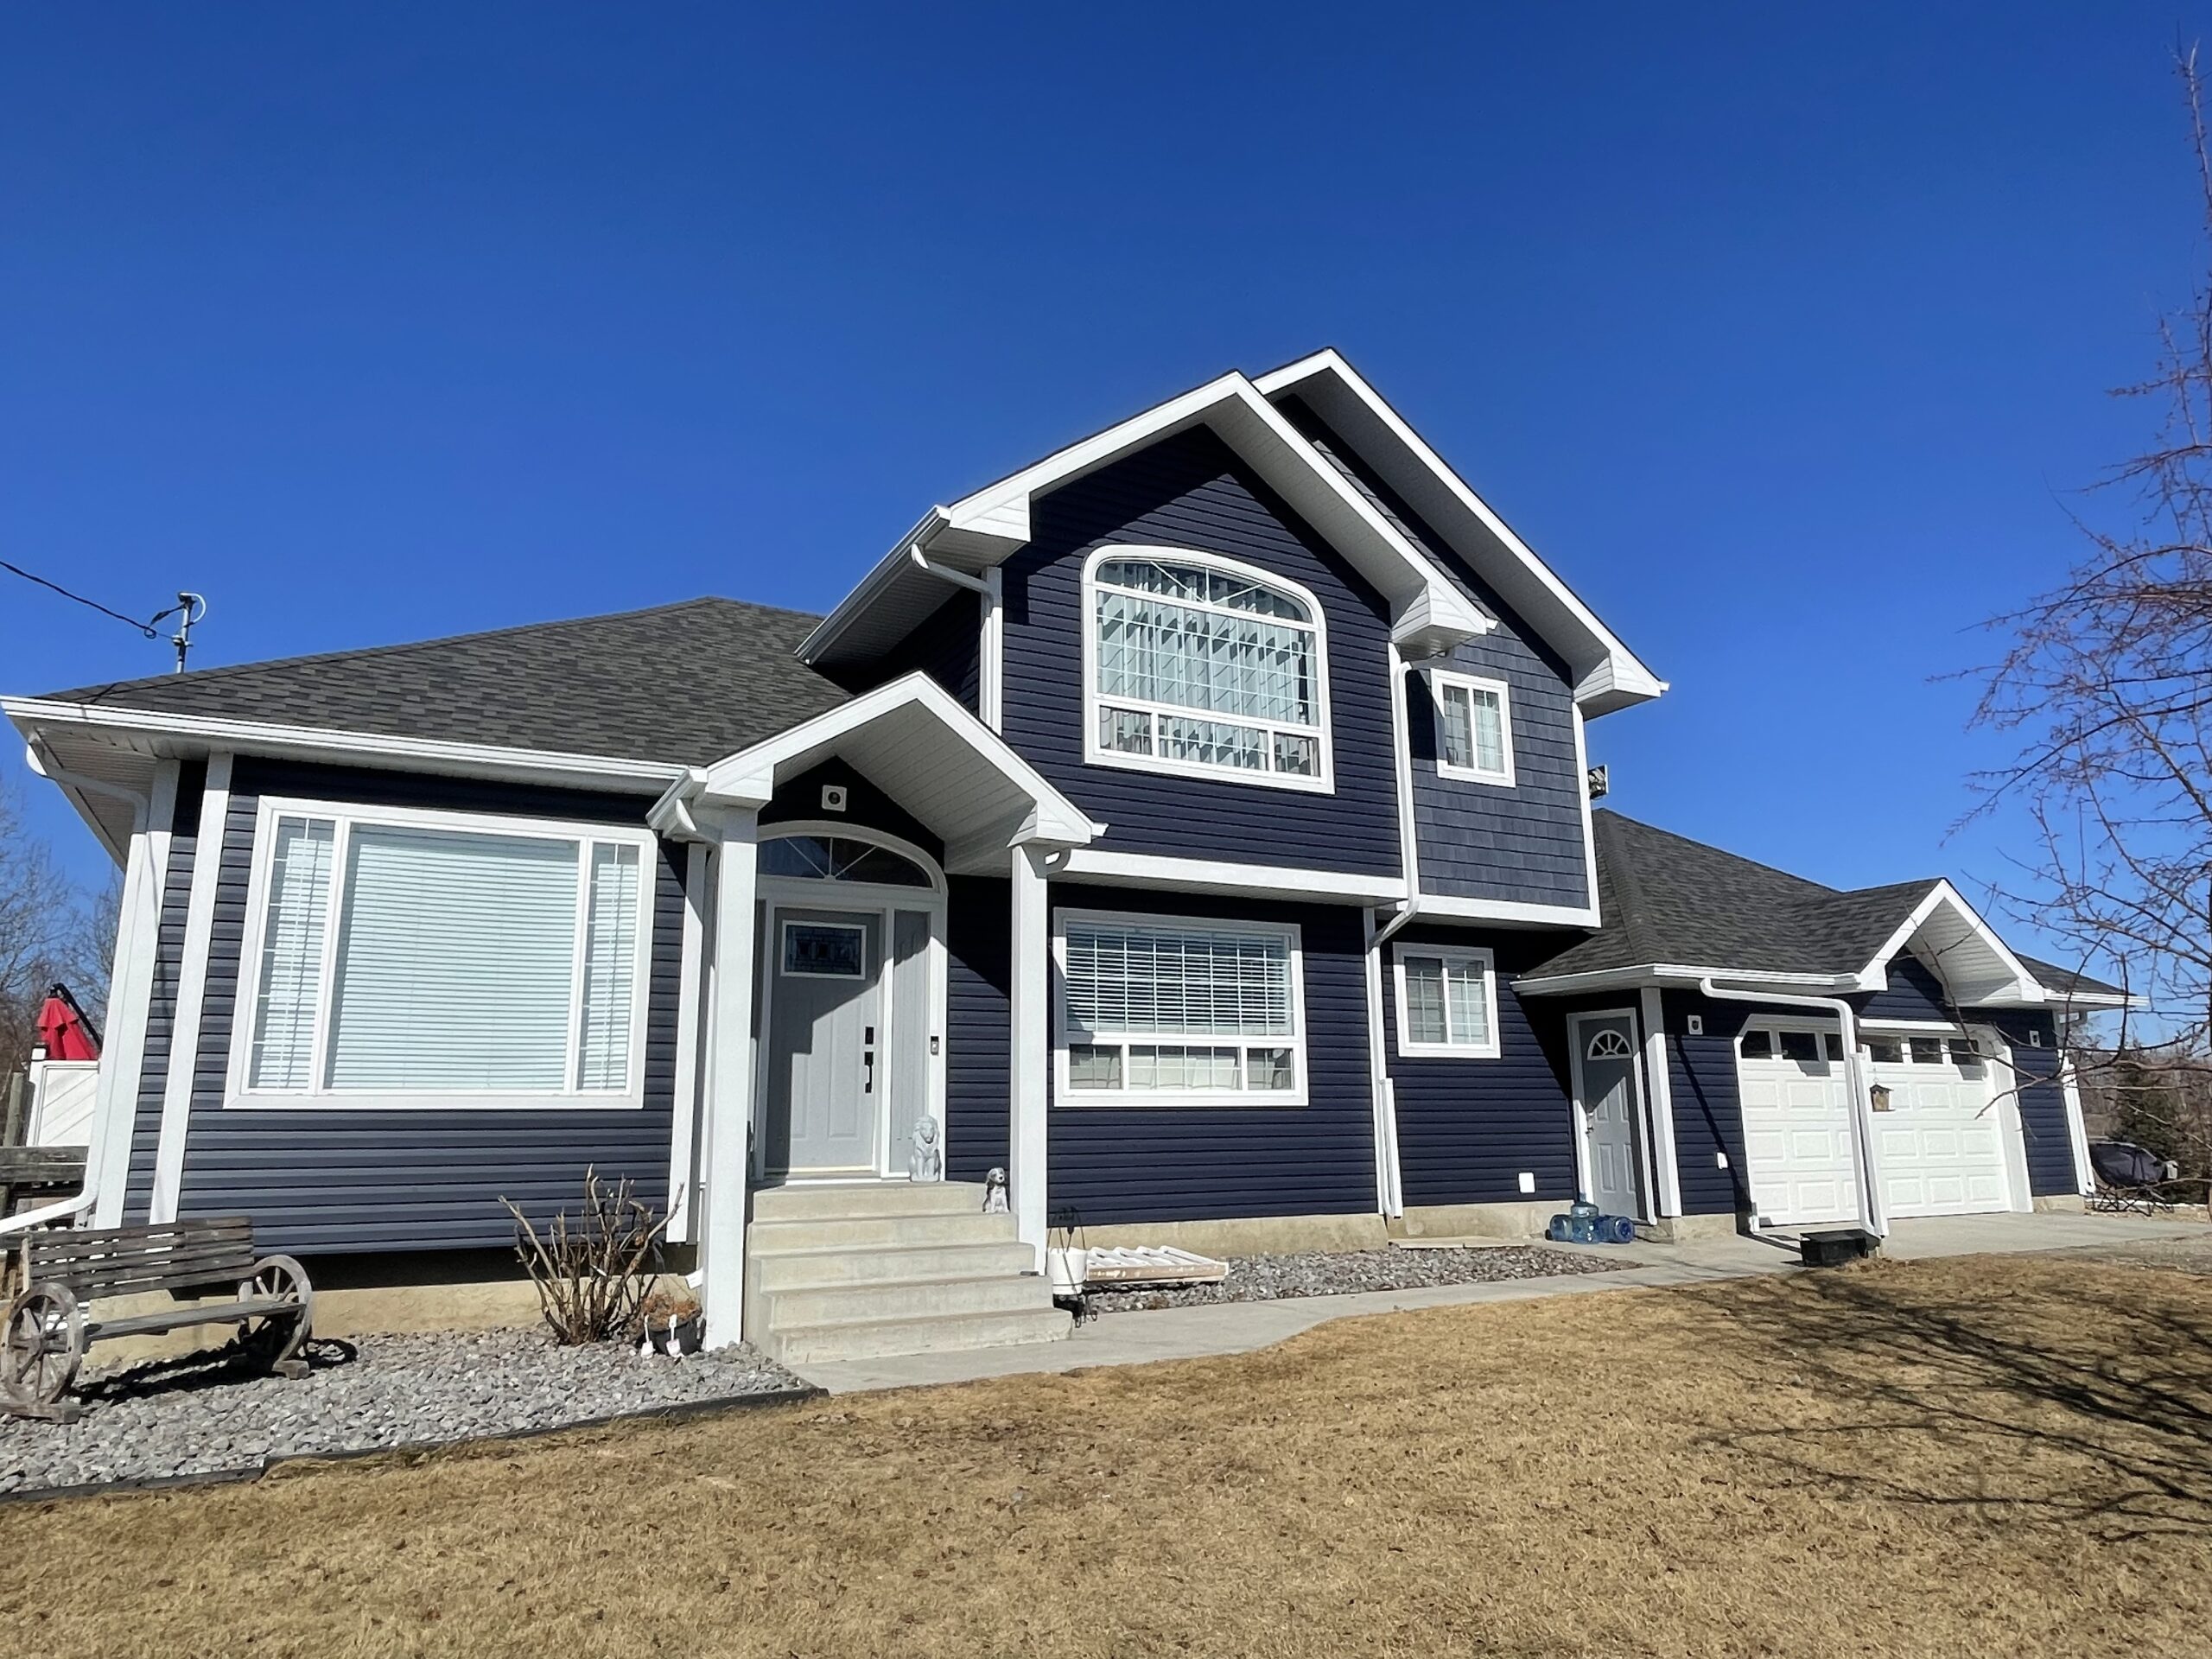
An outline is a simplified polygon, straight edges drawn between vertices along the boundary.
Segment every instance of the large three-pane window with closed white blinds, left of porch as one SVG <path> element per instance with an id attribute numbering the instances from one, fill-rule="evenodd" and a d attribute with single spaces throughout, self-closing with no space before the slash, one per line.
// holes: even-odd
<path id="1" fill-rule="evenodd" d="M 263 801 L 232 1099 L 637 1106 L 646 832 Z"/>

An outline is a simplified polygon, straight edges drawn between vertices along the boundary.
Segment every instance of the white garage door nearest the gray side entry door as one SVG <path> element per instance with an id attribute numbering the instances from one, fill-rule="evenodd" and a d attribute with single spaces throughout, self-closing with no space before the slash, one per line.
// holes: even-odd
<path id="1" fill-rule="evenodd" d="M 1812 1026 L 1747 1026 L 1736 1044 L 1752 1203 L 1772 1228 L 1858 1221 L 1843 1040 Z"/>

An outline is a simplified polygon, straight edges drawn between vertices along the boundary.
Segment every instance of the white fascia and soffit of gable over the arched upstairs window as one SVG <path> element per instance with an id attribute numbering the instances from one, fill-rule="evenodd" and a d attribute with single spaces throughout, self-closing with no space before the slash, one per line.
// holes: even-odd
<path id="1" fill-rule="evenodd" d="M 914 571 L 914 553 L 980 575 L 1031 540 L 1031 502 L 1188 427 L 1212 427 L 1391 602 L 1391 635 L 1411 655 L 1440 655 L 1498 624 L 1376 511 L 1343 473 L 1259 394 L 1243 374 L 1168 398 L 1139 416 L 1046 456 L 951 507 L 933 507 L 876 562 L 860 584 L 799 644 L 799 659 L 832 661 L 838 641 L 891 586 Z"/>

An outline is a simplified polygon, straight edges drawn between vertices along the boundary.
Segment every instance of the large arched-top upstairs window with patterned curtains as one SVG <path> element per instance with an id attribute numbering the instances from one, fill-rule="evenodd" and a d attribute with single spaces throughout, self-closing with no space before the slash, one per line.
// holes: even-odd
<path id="1" fill-rule="evenodd" d="M 1084 759 L 1329 787 L 1327 639 L 1305 588 L 1208 553 L 1108 546 L 1084 573 Z"/>

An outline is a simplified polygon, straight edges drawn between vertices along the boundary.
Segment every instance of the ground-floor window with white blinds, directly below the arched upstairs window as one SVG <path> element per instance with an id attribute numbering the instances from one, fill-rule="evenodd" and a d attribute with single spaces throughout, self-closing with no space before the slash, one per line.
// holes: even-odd
<path id="1" fill-rule="evenodd" d="M 1060 911 L 1060 1102 L 1303 1106 L 1298 929 Z"/>

